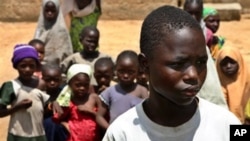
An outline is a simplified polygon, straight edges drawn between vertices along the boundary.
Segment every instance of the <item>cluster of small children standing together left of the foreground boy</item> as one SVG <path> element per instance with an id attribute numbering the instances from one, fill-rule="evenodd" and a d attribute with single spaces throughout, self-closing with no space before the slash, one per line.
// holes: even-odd
<path id="1" fill-rule="evenodd" d="M 136 82 L 134 51 L 121 52 L 115 63 L 100 57 L 94 66 L 71 64 L 64 80 L 59 65 L 41 64 L 42 42 L 29 44 L 15 46 L 12 62 L 19 76 L 0 91 L 0 115 L 11 115 L 7 140 L 100 140 L 115 118 L 148 97 L 148 89 Z"/>

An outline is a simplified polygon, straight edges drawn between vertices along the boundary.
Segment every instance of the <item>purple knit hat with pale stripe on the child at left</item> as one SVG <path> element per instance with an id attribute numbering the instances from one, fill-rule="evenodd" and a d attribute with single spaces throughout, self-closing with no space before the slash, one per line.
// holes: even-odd
<path id="1" fill-rule="evenodd" d="M 18 63 L 25 58 L 33 58 L 38 65 L 40 64 L 38 53 L 34 47 L 27 44 L 17 44 L 14 47 L 14 52 L 11 59 L 13 67 L 16 68 Z"/>

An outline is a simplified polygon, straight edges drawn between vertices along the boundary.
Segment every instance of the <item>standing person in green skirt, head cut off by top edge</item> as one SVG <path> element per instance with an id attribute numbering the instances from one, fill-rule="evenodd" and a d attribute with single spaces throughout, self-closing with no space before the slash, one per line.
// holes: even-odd
<path id="1" fill-rule="evenodd" d="M 73 51 L 83 49 L 79 34 L 86 26 L 97 26 L 101 15 L 100 0 L 63 0 L 62 10 L 66 25 L 70 31 Z"/>

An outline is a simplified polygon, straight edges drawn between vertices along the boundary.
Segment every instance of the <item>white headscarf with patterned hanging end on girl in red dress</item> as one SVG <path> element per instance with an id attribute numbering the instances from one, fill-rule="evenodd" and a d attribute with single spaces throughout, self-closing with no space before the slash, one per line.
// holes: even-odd
<path id="1" fill-rule="evenodd" d="M 84 73 L 89 76 L 91 79 L 92 77 L 92 69 L 90 65 L 87 64 L 73 64 L 67 72 L 66 81 L 69 81 L 79 73 Z M 72 90 L 70 89 L 69 85 L 66 85 L 61 93 L 57 97 L 57 102 L 60 106 L 68 107 L 70 103 L 70 98 L 72 95 Z"/>

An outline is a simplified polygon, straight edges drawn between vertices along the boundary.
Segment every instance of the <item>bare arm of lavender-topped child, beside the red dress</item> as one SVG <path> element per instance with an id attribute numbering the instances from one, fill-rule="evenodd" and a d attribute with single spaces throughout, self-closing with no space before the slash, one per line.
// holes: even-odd
<path id="1" fill-rule="evenodd" d="M 109 126 L 109 123 L 105 119 L 105 115 L 108 111 L 108 106 L 104 102 L 102 102 L 99 97 L 97 98 L 96 102 L 97 102 L 97 109 L 98 109 L 97 115 L 96 115 L 96 122 L 101 128 L 107 129 Z"/>

